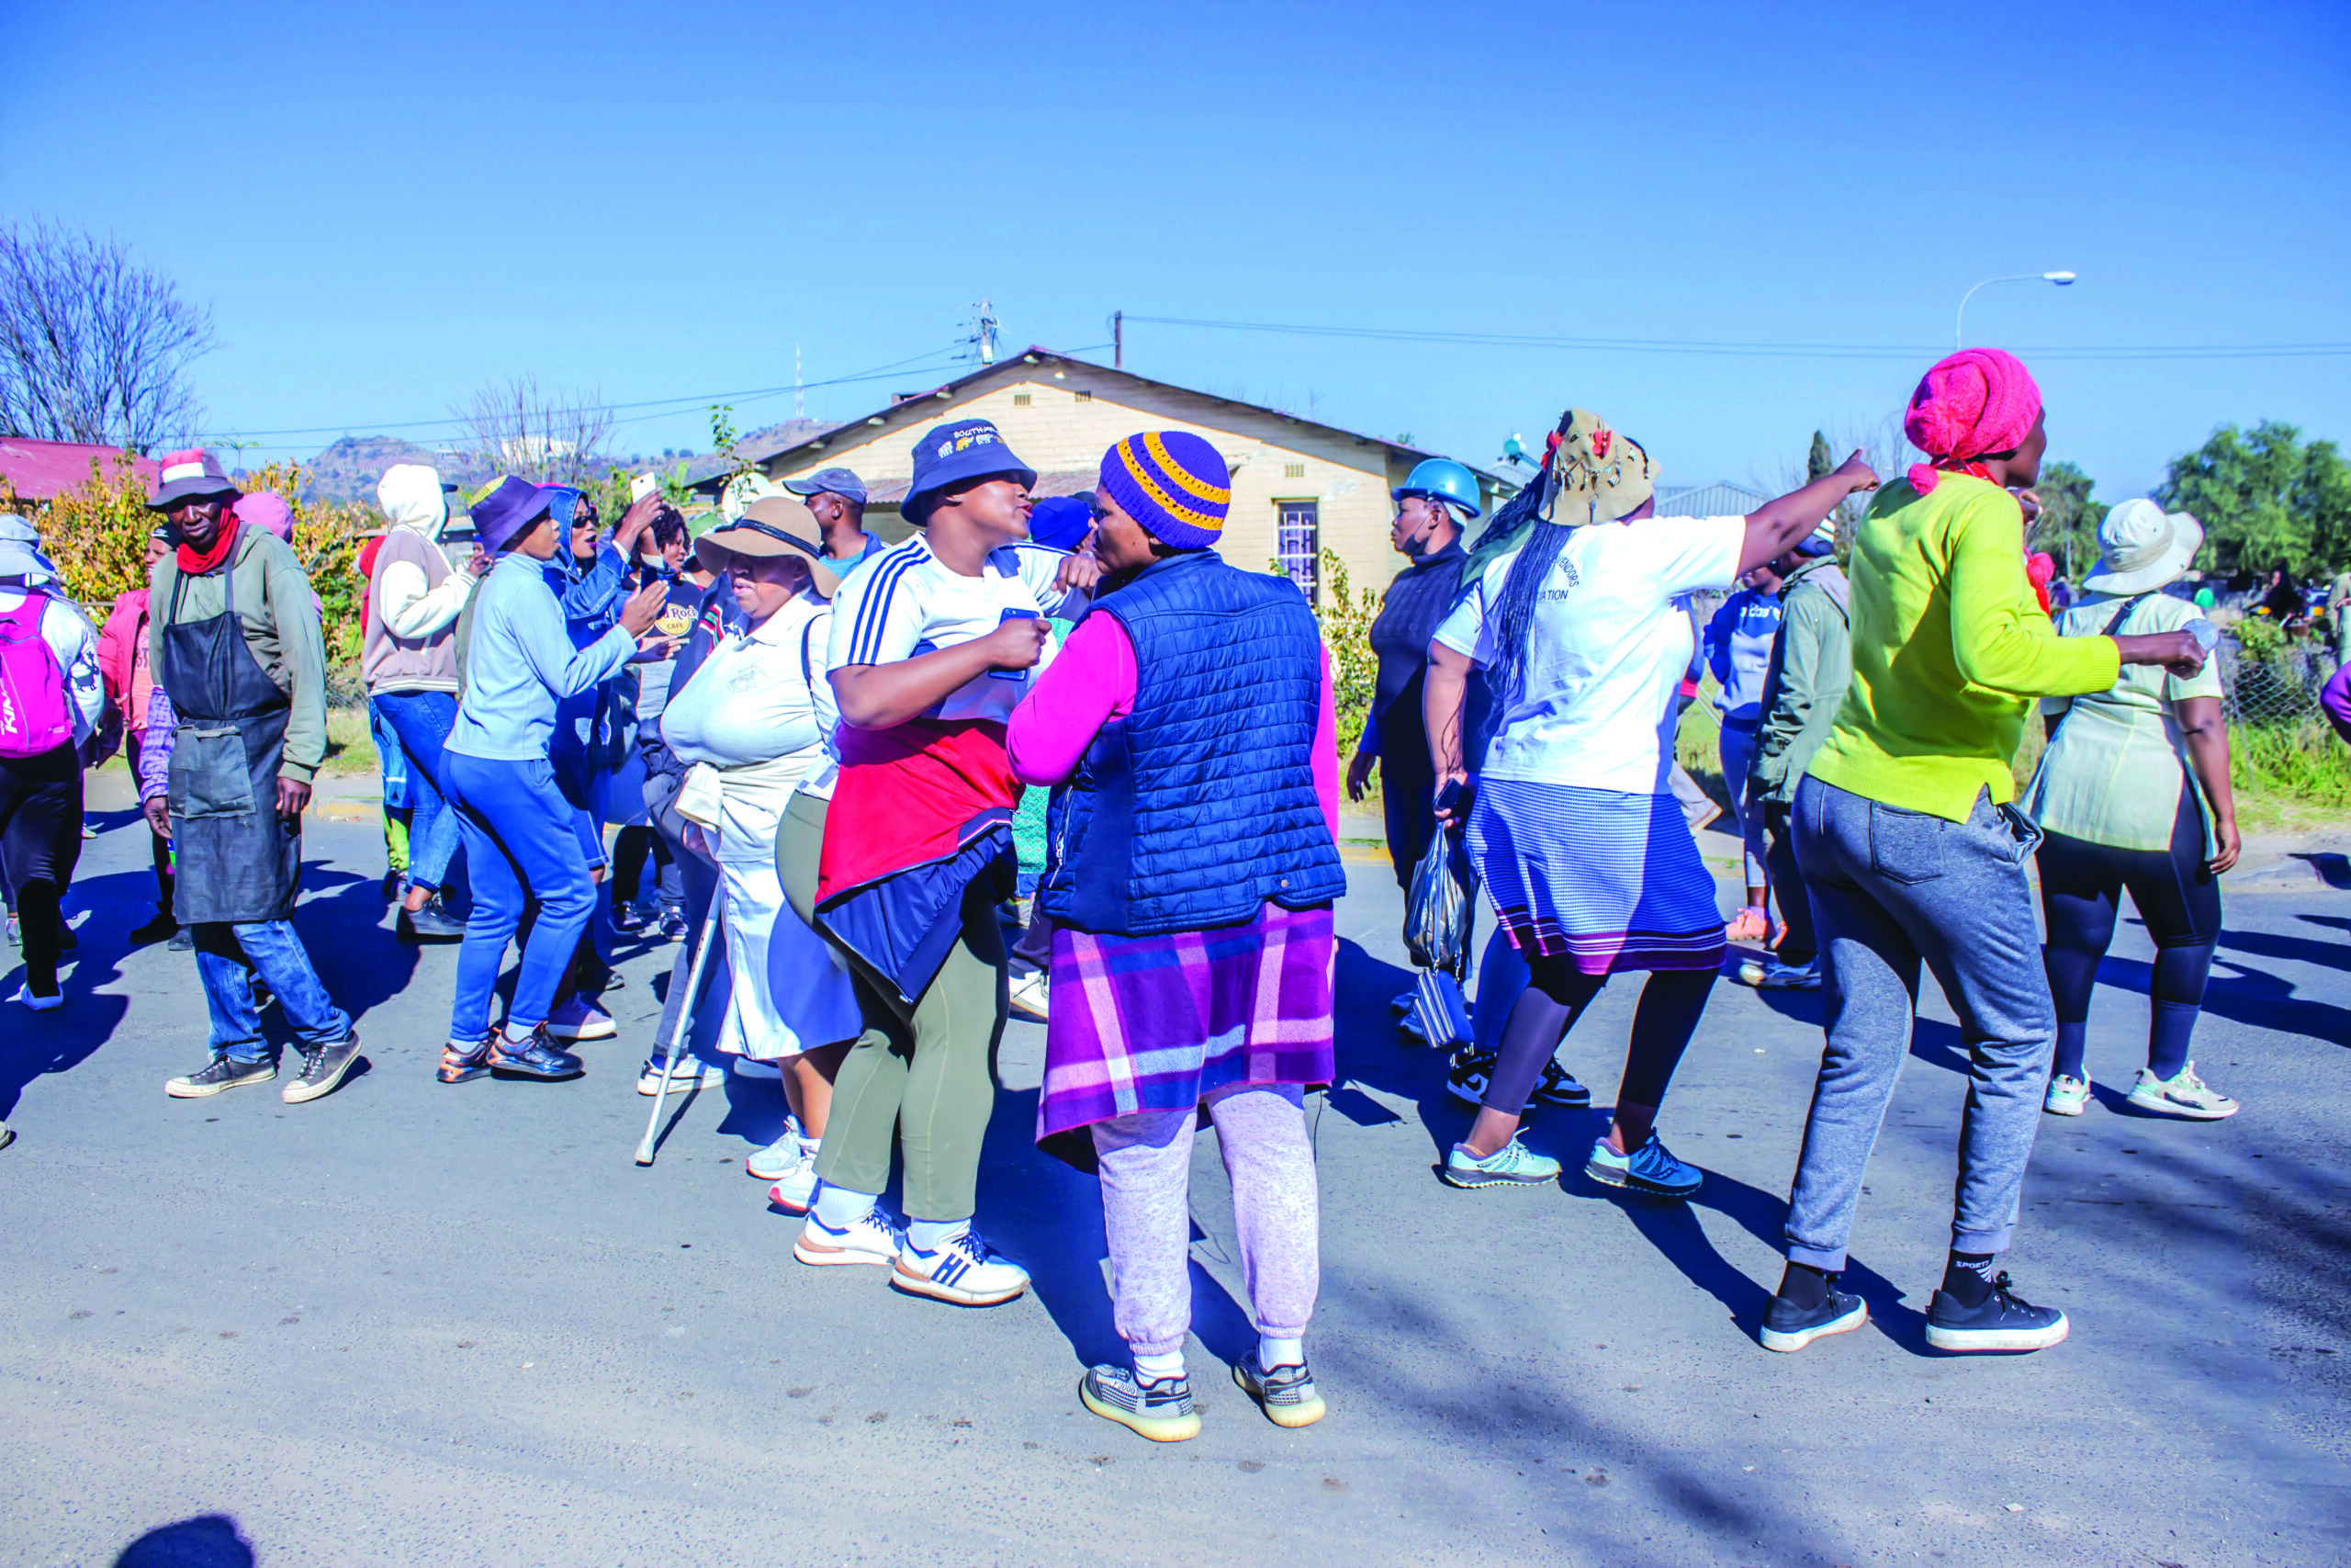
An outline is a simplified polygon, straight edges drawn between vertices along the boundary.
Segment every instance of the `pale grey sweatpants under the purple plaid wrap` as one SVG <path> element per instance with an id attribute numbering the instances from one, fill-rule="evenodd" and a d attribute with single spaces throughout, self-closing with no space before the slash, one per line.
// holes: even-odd
<path id="1" fill-rule="evenodd" d="M 1208 1095 L 1232 1180 L 1248 1312 L 1270 1340 L 1305 1338 L 1321 1288 L 1321 1208 L 1305 1098 L 1291 1084 Z M 1119 1338 L 1138 1356 L 1183 1349 L 1192 1328 L 1192 1133 L 1197 1110 L 1150 1110 L 1093 1124 L 1103 1229 Z"/>

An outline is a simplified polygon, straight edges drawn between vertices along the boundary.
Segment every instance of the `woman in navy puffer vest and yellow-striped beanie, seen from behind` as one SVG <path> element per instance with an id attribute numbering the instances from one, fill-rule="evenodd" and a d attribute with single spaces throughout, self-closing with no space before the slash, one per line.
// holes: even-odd
<path id="1" fill-rule="evenodd" d="M 1086 1135 L 1133 1356 L 1091 1368 L 1079 1399 L 1154 1441 L 1199 1432 L 1183 1345 L 1201 1110 L 1260 1335 L 1234 1382 L 1277 1425 L 1324 1413 L 1302 1349 L 1321 1279 L 1302 1091 L 1333 1074 L 1331 900 L 1347 891 L 1331 668 L 1298 588 L 1211 548 L 1230 487 L 1197 435 L 1110 449 L 1093 545 L 1110 592 L 1006 736 L 1025 783 L 1063 785 L 1039 891 L 1053 978 L 1037 1138 Z"/>

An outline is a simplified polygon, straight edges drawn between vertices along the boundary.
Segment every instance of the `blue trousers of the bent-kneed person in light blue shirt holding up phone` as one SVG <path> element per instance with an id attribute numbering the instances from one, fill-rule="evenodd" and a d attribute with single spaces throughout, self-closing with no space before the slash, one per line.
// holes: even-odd
<path id="1" fill-rule="evenodd" d="M 496 762 L 442 752 L 442 785 L 463 827 L 473 877 L 473 914 L 465 917 L 465 940 L 456 952 L 449 1039 L 473 1044 L 489 1034 L 505 945 L 515 940 L 522 907 L 531 898 L 538 900 L 538 919 L 531 924 L 531 940 L 522 945 L 505 1025 L 520 1032 L 548 1020 L 555 985 L 595 912 L 595 884 L 588 882 L 588 865 L 571 832 L 571 804 L 543 759 Z"/>

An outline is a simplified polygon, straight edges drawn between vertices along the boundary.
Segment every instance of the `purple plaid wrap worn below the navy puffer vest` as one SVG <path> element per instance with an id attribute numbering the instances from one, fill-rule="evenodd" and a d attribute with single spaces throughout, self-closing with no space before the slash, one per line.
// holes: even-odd
<path id="1" fill-rule="evenodd" d="M 1053 931 L 1037 1140 L 1234 1084 L 1328 1084 L 1331 905 L 1166 936 Z"/>

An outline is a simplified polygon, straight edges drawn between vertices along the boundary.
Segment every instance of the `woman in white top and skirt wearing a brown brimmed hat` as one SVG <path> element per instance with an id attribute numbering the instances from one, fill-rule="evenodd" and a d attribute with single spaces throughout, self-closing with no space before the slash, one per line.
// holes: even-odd
<path id="1" fill-rule="evenodd" d="M 717 830 L 731 1025 L 719 1048 L 783 1067 L 792 1124 L 755 1159 L 771 1194 L 806 1208 L 832 1077 L 863 1027 L 849 966 L 785 907 L 776 837 L 802 778 L 830 769 L 832 684 L 825 637 L 835 588 L 823 534 L 799 501 L 771 496 L 696 543 L 703 564 L 734 576 L 743 632 L 722 639 L 661 712 L 661 738 L 694 764 L 677 809 Z"/>

